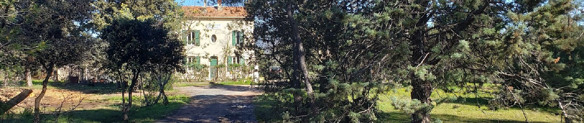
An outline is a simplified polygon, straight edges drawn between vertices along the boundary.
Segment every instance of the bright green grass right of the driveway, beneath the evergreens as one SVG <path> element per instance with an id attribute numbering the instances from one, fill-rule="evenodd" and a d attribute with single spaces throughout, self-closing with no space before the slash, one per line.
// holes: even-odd
<path id="1" fill-rule="evenodd" d="M 410 122 L 411 115 L 402 113 L 400 110 L 394 109 L 391 105 L 390 99 L 409 100 L 409 91 L 406 89 L 397 89 L 394 92 L 389 92 L 380 96 L 378 101 L 378 122 Z M 432 99 L 437 100 L 440 97 L 454 96 L 453 93 L 444 93 L 436 91 L 432 94 Z M 437 104 L 432 112 L 432 118 L 439 118 L 444 123 L 495 123 L 495 122 L 509 122 L 519 123 L 525 122 L 522 110 L 519 107 L 512 107 L 506 110 L 492 111 L 488 110 L 486 106 L 488 101 L 484 99 L 475 99 L 474 94 L 456 93 L 456 96 L 463 97 L 462 101 L 451 101 L 449 103 Z M 480 96 L 480 95 L 479 95 Z M 484 95 L 483 95 L 484 96 Z M 260 122 L 273 122 L 272 109 L 273 101 L 264 98 L 266 96 L 258 96 L 255 101 L 255 114 L 258 116 Z M 477 104 L 481 104 L 479 108 Z M 560 117 L 546 113 L 543 111 L 534 111 L 526 108 L 525 113 L 530 122 L 536 123 L 551 123 L 559 122 Z"/>

